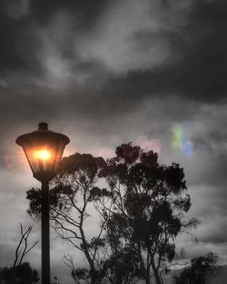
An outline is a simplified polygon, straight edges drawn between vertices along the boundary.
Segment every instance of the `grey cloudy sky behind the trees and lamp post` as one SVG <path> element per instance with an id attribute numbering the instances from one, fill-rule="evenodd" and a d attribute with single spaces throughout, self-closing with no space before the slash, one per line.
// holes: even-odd
<path id="1" fill-rule="evenodd" d="M 227 263 L 226 15 L 225 0 L 0 0 L 0 266 L 34 223 L 25 191 L 39 184 L 15 138 L 38 122 L 70 137 L 65 154 L 132 141 L 180 162 L 202 224 L 179 248 Z M 54 241 L 53 273 L 69 274 Z"/>

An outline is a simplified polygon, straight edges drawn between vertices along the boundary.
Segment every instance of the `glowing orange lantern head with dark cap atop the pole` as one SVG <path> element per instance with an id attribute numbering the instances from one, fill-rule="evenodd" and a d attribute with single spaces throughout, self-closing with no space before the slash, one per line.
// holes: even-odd
<path id="1" fill-rule="evenodd" d="M 23 147 L 35 179 L 51 181 L 69 138 L 48 130 L 47 123 L 41 122 L 37 131 L 21 135 L 15 142 Z"/>

